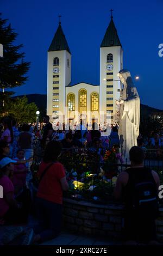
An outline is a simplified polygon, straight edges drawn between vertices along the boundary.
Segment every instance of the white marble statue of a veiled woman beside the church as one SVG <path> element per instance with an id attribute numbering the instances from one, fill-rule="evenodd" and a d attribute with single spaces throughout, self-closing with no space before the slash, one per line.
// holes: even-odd
<path id="1" fill-rule="evenodd" d="M 116 100 L 116 104 L 120 105 L 118 135 L 120 136 L 123 159 L 129 163 L 129 150 L 137 145 L 137 137 L 139 136 L 140 97 L 128 70 L 120 70 L 118 76 L 123 83 L 120 100 Z"/>

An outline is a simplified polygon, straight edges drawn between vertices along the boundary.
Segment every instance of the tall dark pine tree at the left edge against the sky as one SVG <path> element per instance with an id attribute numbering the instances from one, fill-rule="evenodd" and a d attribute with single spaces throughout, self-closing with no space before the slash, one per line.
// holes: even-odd
<path id="1" fill-rule="evenodd" d="M 30 67 L 29 62 L 23 62 L 25 54 L 20 52 L 23 45 L 14 45 L 17 33 L 7 22 L 0 14 L 0 44 L 3 45 L 3 57 L 0 57 L 0 114 L 8 111 L 5 102 L 9 102 L 14 94 L 7 89 L 22 86 L 28 79 L 25 74 Z"/>

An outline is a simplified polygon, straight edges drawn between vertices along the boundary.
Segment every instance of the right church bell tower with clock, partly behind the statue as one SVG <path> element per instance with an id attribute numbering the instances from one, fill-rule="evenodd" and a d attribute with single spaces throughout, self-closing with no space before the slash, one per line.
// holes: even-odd
<path id="1" fill-rule="evenodd" d="M 120 98 L 117 74 L 123 68 L 123 50 L 117 29 L 111 20 L 100 46 L 100 109 L 106 113 L 106 123 L 117 123 L 115 100 Z"/>

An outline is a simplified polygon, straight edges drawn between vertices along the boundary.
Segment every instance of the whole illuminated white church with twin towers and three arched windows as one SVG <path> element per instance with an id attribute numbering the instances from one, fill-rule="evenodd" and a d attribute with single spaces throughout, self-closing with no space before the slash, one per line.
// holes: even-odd
<path id="1" fill-rule="evenodd" d="M 115 100 L 120 99 L 121 88 L 117 74 L 122 68 L 122 45 L 111 16 L 100 46 L 99 84 L 71 84 L 71 52 L 59 22 L 47 60 L 47 115 L 51 121 L 116 122 Z"/>

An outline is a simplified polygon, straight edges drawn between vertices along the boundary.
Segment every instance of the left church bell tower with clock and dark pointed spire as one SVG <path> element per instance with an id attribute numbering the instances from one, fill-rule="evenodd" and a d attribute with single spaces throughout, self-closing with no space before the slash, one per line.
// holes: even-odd
<path id="1" fill-rule="evenodd" d="M 59 25 L 48 48 L 47 115 L 51 121 L 64 123 L 66 86 L 71 82 L 71 52 L 61 27 L 61 15 L 58 17 Z"/>

